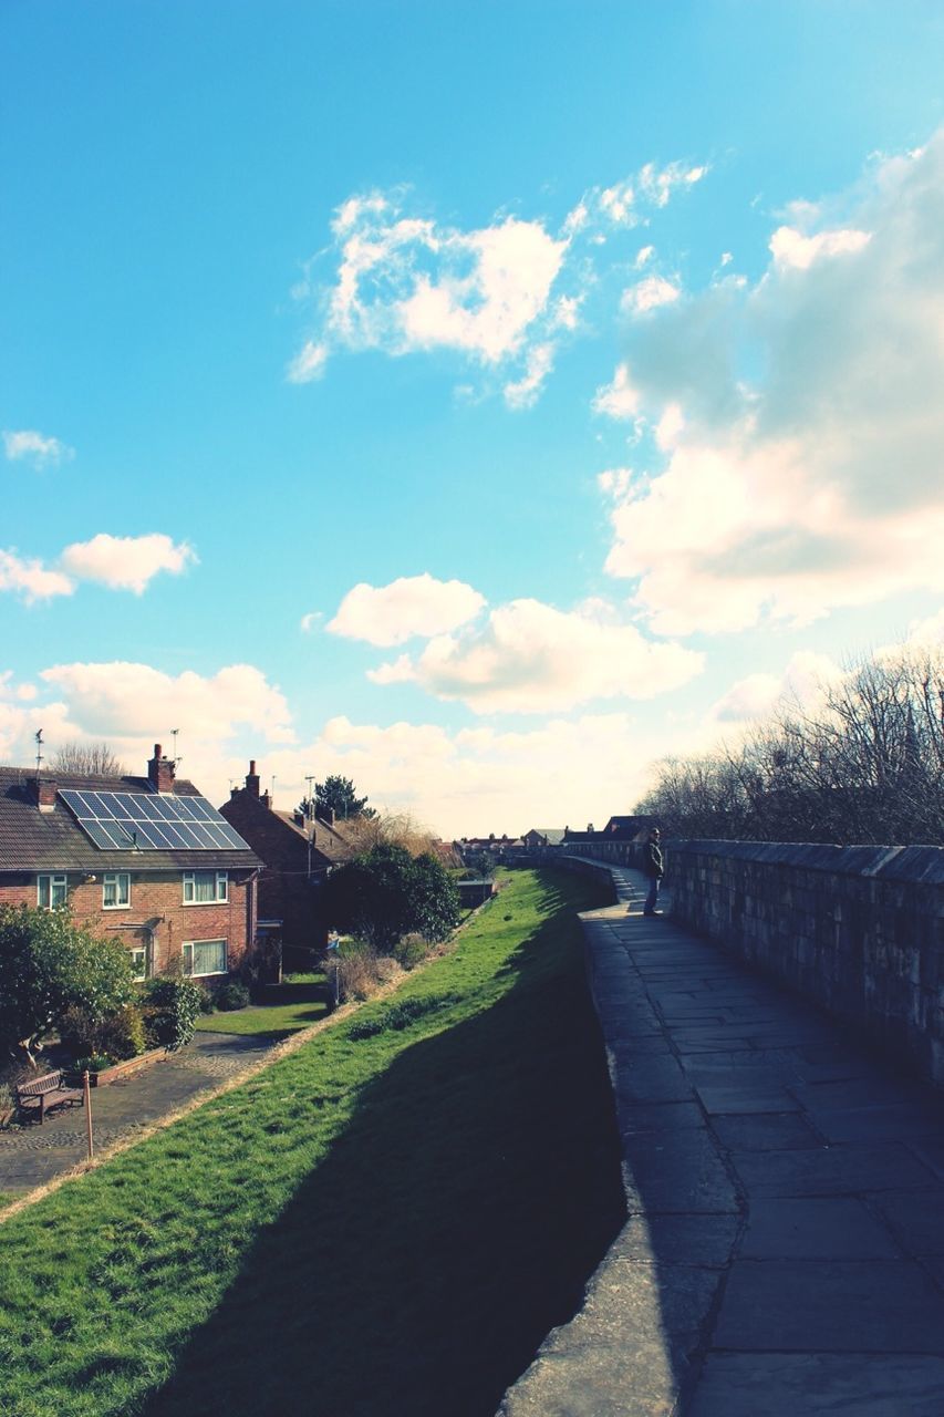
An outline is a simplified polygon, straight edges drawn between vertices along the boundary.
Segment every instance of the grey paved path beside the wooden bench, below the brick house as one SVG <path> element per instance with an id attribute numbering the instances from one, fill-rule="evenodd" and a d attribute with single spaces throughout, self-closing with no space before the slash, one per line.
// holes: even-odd
<path id="1" fill-rule="evenodd" d="M 167 1060 L 126 1081 L 95 1088 L 95 1145 L 106 1146 L 176 1112 L 271 1047 L 271 1039 L 196 1033 L 186 1049 Z M 0 1132 L 0 1193 L 33 1190 L 81 1161 L 85 1161 L 85 1114 L 78 1107 L 58 1108 L 41 1127 L 33 1122 Z"/>

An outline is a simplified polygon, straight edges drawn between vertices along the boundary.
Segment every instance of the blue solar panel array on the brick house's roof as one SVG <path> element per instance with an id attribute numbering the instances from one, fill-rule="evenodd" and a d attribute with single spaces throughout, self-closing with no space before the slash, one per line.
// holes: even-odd
<path id="1" fill-rule="evenodd" d="M 102 852 L 248 852 L 242 837 L 201 796 L 78 792 L 60 796 Z"/>

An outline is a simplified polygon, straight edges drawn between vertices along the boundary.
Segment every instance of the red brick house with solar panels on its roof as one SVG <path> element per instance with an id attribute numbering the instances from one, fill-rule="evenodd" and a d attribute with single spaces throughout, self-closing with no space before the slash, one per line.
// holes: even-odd
<path id="1" fill-rule="evenodd" d="M 126 945 L 139 979 L 180 968 L 213 988 L 238 971 L 261 864 L 160 744 L 140 778 L 0 767 L 0 905 L 67 905 Z"/>

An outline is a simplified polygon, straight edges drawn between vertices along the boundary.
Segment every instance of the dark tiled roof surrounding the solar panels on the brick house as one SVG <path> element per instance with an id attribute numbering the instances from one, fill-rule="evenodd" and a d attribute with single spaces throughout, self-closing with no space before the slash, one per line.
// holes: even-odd
<path id="1" fill-rule="evenodd" d="M 244 850 L 102 850 L 65 806 L 61 789 L 152 794 L 149 779 L 41 772 L 40 778 L 54 782 L 57 788 L 52 808 L 41 812 L 35 801 L 35 769 L 0 767 L 0 873 L 252 870 L 262 864 L 248 846 Z M 174 796 L 201 795 L 186 779 L 174 782 L 173 792 Z"/>

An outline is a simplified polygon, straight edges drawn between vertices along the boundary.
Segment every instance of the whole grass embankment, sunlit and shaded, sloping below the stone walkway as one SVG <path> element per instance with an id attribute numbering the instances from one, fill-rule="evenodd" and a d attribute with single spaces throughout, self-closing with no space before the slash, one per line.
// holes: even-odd
<path id="1" fill-rule="evenodd" d="M 622 1216 L 594 890 L 516 874 L 395 996 L 9 1220 L 0 1411 L 493 1413 Z"/>

